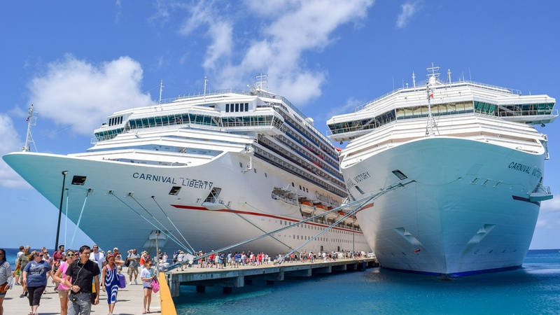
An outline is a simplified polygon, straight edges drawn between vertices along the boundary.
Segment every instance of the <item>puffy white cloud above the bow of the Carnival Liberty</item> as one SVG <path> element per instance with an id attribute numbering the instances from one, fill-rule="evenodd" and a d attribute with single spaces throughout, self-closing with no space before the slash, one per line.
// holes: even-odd
<path id="1" fill-rule="evenodd" d="M 66 55 L 29 83 L 29 102 L 41 117 L 92 134 L 114 111 L 153 104 L 141 92 L 142 68 L 130 57 L 99 65 Z"/>

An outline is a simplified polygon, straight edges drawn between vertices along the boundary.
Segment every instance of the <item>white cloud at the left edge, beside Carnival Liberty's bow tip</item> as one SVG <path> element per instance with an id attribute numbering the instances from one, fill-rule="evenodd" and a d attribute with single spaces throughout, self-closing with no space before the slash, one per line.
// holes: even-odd
<path id="1" fill-rule="evenodd" d="M 13 127 L 13 120 L 4 113 L 0 113 L 0 134 L 2 135 L 0 137 L 0 156 L 14 151 L 21 151 L 22 141 L 20 141 L 20 136 Z M 0 186 L 7 188 L 31 187 L 2 159 L 0 159 Z"/>

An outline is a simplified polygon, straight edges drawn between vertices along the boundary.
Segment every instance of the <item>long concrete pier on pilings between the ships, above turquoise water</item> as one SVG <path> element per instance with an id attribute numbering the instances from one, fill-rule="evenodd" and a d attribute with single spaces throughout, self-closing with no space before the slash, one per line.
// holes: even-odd
<path id="1" fill-rule="evenodd" d="M 269 286 L 276 281 L 289 278 L 307 278 L 313 274 L 330 274 L 332 272 L 345 272 L 348 270 L 362 270 L 379 266 L 375 258 L 337 259 L 323 262 L 283 262 L 281 265 L 241 266 L 239 268 L 226 267 L 199 268 L 184 267 L 183 270 L 174 269 L 166 273 L 167 283 L 172 297 L 178 297 L 181 285 L 196 286 L 198 293 L 204 293 L 207 286 L 220 286 L 223 293 L 232 293 L 233 288 L 250 285 L 253 281 L 263 281 Z"/>

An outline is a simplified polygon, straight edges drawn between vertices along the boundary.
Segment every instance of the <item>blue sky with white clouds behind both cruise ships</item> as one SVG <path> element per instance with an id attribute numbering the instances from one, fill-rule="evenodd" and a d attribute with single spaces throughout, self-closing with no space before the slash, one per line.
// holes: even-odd
<path id="1" fill-rule="evenodd" d="M 412 83 L 413 70 L 424 78 L 430 62 L 451 69 L 453 80 L 558 99 L 558 12 L 559 1 L 3 3 L 0 154 L 20 150 L 31 103 L 38 151 L 76 153 L 105 116 L 155 101 L 160 80 L 166 98 L 202 92 L 204 76 L 216 90 L 268 73 L 269 90 L 322 132 L 330 116 Z M 559 124 L 542 128 L 551 155 L 545 183 L 556 195 Z M 54 245 L 57 207 L 3 161 L 0 198 L 2 246 Z M 560 248 L 559 226 L 560 198 L 542 204 L 531 248 Z"/>

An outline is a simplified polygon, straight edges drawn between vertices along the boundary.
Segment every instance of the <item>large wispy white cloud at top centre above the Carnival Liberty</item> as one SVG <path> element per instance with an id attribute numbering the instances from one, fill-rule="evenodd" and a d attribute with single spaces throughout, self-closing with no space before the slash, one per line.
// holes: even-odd
<path id="1" fill-rule="evenodd" d="M 349 22 L 365 18 L 373 0 L 303 1 L 247 0 L 245 8 L 258 16 L 262 26 L 255 38 L 241 50 L 239 57 L 232 57 L 235 19 L 223 16 L 215 3 L 199 3 L 188 7 L 189 17 L 183 22 L 180 33 L 191 34 L 195 29 L 207 29 L 211 39 L 202 63 L 214 76 L 214 85 L 244 87 L 252 82 L 255 73 L 265 72 L 269 90 L 284 94 L 299 105 L 321 95 L 321 86 L 327 73 L 310 69 L 304 53 L 321 50 L 333 41 L 332 32 Z M 246 14 L 246 13 L 245 13 Z"/>

